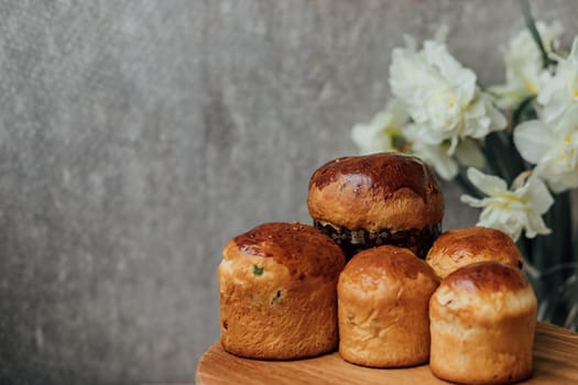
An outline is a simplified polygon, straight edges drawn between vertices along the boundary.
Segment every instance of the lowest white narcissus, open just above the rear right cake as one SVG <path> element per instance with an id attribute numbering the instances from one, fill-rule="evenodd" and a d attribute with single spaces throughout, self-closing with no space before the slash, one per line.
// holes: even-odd
<path id="1" fill-rule="evenodd" d="M 487 198 L 477 199 L 462 195 L 461 201 L 471 207 L 483 208 L 477 226 L 501 230 L 517 241 L 525 231 L 526 238 L 549 234 L 542 215 L 554 204 L 546 185 L 535 175 L 519 187 L 509 189 L 505 182 L 493 175 L 486 175 L 476 168 L 468 168 L 468 179 Z M 515 184 L 515 183 L 514 183 Z"/>

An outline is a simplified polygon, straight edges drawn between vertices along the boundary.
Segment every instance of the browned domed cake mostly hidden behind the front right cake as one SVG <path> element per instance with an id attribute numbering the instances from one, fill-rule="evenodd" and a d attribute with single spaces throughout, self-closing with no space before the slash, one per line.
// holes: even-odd
<path id="1" fill-rule="evenodd" d="M 522 268 L 522 254 L 504 232 L 469 227 L 444 232 L 434 242 L 425 260 L 440 278 L 476 262 L 503 262 Z"/>

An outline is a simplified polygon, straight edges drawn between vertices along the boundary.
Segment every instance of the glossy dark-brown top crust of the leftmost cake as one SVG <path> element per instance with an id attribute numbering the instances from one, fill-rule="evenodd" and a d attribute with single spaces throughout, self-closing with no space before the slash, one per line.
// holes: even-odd
<path id="1" fill-rule="evenodd" d="M 343 268 L 341 249 L 312 226 L 268 222 L 231 239 L 223 249 L 225 260 L 252 255 L 273 258 L 292 275 L 335 278 Z"/>

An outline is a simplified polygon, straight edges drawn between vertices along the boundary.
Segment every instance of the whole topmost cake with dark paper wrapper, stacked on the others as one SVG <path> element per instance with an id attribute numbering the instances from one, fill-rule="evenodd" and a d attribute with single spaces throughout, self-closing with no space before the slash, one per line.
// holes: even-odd
<path id="1" fill-rule="evenodd" d="M 414 156 L 381 153 L 334 160 L 312 175 L 314 226 L 350 258 L 382 244 L 425 257 L 441 232 L 444 195 L 433 170 Z"/>

